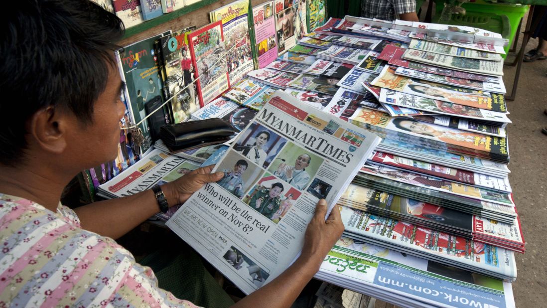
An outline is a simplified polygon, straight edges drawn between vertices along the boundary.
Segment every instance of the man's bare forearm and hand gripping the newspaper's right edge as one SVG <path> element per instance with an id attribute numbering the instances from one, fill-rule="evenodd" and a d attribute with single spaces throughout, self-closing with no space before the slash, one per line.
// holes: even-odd
<path id="1" fill-rule="evenodd" d="M 293 304 L 344 231 L 344 224 L 337 206 L 333 208 L 327 220 L 325 220 L 325 214 L 327 214 L 327 201 L 321 199 L 306 229 L 300 257 L 281 275 L 247 295 L 233 307 L 274 308 L 290 307 Z"/>

